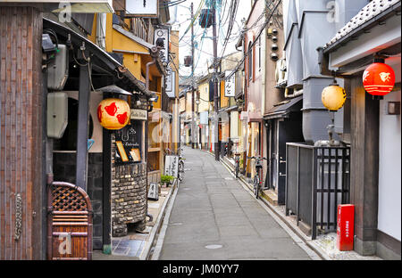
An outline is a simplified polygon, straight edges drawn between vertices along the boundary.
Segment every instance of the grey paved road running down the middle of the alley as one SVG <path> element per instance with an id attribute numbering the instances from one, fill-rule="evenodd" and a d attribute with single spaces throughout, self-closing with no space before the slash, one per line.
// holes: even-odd
<path id="1" fill-rule="evenodd" d="M 310 259 L 213 156 L 185 147 L 184 157 L 159 259 Z"/>

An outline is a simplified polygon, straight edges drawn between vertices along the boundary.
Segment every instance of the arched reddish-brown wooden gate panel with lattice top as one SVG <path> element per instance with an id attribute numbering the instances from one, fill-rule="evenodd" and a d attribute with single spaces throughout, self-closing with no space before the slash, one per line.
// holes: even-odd
<path id="1" fill-rule="evenodd" d="M 92 259 L 92 206 L 87 192 L 53 182 L 48 190 L 47 258 Z"/>

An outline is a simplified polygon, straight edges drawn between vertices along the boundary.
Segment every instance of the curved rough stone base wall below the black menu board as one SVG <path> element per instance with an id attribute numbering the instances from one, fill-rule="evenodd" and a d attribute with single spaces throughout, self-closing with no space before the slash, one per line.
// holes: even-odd
<path id="1" fill-rule="evenodd" d="M 112 231 L 125 236 L 128 224 L 144 224 L 147 217 L 147 164 L 112 168 Z"/>

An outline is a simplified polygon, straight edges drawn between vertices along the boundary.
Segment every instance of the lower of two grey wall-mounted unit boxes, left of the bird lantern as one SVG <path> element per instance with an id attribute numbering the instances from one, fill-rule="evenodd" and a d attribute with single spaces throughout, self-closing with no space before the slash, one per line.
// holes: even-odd
<path id="1" fill-rule="evenodd" d="M 66 93 L 47 94 L 47 136 L 60 139 L 68 123 L 69 101 Z"/>

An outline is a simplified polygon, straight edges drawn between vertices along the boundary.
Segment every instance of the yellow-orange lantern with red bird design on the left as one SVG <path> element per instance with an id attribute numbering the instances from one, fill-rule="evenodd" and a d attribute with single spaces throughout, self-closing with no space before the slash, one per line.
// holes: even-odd
<path id="1" fill-rule="evenodd" d="M 106 129 L 121 129 L 130 121 L 130 105 L 120 99 L 105 99 L 97 106 L 97 119 Z"/>

